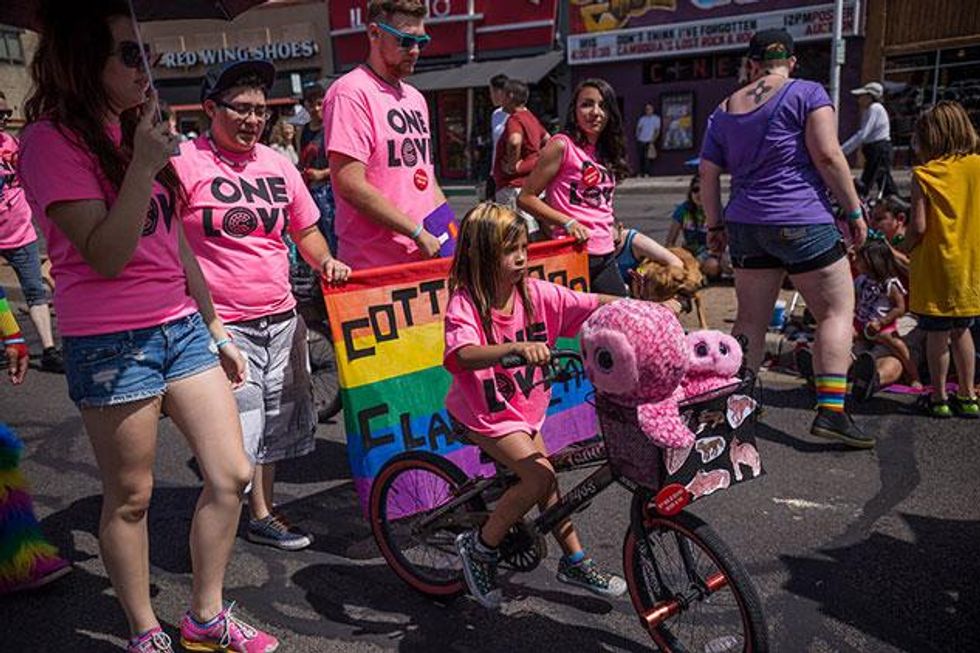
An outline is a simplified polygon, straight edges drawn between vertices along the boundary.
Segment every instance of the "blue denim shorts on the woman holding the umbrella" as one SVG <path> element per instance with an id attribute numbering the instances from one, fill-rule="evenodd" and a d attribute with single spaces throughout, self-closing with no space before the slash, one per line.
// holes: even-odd
<path id="1" fill-rule="evenodd" d="M 134 331 L 65 336 L 68 396 L 79 408 L 160 397 L 167 384 L 218 364 L 199 313 Z"/>

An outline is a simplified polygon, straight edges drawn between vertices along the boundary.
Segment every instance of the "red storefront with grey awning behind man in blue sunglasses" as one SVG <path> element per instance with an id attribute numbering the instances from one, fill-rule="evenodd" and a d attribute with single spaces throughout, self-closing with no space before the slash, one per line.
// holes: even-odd
<path id="1" fill-rule="evenodd" d="M 367 56 L 363 0 L 331 0 L 330 32 L 338 72 Z M 429 102 L 436 171 L 444 182 L 482 180 L 490 167 L 487 84 L 498 73 L 531 85 L 529 107 L 557 119 L 564 57 L 555 49 L 558 0 L 428 0 L 423 51 L 409 83 Z"/>

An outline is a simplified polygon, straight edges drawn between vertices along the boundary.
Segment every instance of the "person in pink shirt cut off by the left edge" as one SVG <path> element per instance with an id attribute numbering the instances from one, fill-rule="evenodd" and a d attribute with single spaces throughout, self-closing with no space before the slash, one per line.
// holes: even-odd
<path id="1" fill-rule="evenodd" d="M 65 365 L 61 352 L 54 346 L 51 309 L 41 275 L 41 258 L 37 233 L 31 222 L 31 207 L 15 173 L 19 143 L 6 133 L 7 121 L 12 115 L 13 110 L 7 105 L 6 96 L 0 92 L 0 256 L 14 268 L 24 291 L 31 322 L 44 348 L 41 369 L 62 373 Z"/>

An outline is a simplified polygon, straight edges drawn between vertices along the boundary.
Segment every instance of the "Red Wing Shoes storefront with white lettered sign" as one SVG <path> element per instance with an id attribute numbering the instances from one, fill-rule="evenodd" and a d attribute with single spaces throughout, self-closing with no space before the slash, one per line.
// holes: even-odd
<path id="1" fill-rule="evenodd" d="M 292 111 L 305 85 L 333 71 L 323 0 L 279 0 L 230 22 L 161 21 L 144 24 L 142 31 L 153 49 L 153 77 L 160 97 L 177 114 L 183 133 L 199 133 L 206 127 L 201 78 L 211 65 L 243 59 L 272 61 L 277 75 L 269 104 L 285 114 Z"/>

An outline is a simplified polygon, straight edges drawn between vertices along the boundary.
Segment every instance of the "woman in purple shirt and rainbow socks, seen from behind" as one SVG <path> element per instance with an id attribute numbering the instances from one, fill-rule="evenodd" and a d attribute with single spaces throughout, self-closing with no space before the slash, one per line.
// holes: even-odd
<path id="1" fill-rule="evenodd" d="M 854 286 L 829 189 L 849 219 L 855 244 L 867 234 L 861 202 L 837 141 L 837 117 L 823 87 L 790 79 L 793 39 L 781 29 L 749 43 L 749 83 L 708 122 L 701 151 L 701 196 L 708 244 L 728 245 L 738 313 L 732 332 L 748 338 L 748 362 L 762 362 L 766 326 L 786 273 L 817 319 L 817 416 L 810 432 L 853 447 L 874 446 L 844 412 Z M 721 210 L 719 178 L 732 175 Z"/>

